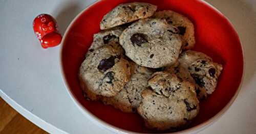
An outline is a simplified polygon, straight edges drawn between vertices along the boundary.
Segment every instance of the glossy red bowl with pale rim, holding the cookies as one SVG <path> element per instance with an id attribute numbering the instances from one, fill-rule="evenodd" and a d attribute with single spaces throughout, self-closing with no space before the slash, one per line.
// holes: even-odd
<path id="1" fill-rule="evenodd" d="M 102 17 L 121 3 L 129 0 L 97 1 L 84 9 L 69 25 L 62 40 L 60 64 L 68 92 L 80 110 L 92 121 L 119 132 L 154 133 L 144 126 L 135 113 L 123 113 L 112 106 L 84 99 L 78 82 L 78 68 L 100 31 Z M 223 65 L 216 91 L 200 102 L 200 113 L 189 128 L 180 132 L 199 131 L 216 121 L 237 97 L 244 70 L 244 55 L 237 32 L 228 19 L 217 9 L 200 0 L 138 1 L 158 6 L 158 10 L 173 10 L 187 16 L 195 25 L 194 50 L 206 53 Z M 75 126 L 74 126 L 75 127 Z M 166 133 L 168 131 L 163 131 Z"/>

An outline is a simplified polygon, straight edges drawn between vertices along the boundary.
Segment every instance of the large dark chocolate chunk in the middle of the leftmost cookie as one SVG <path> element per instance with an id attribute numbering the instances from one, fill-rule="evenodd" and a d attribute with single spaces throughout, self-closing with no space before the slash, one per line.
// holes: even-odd
<path id="1" fill-rule="evenodd" d="M 104 72 L 104 71 L 112 68 L 115 65 L 115 59 L 116 59 L 116 57 L 111 56 L 108 59 L 101 60 L 98 65 L 98 69 Z"/>

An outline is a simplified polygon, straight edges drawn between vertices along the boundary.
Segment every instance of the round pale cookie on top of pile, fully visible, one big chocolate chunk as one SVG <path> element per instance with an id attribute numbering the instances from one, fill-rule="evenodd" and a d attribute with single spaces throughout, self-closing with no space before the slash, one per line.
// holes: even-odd
<path id="1" fill-rule="evenodd" d="M 123 31 L 119 43 L 140 66 L 159 68 L 176 62 L 182 39 L 178 29 L 161 19 L 140 19 Z"/>

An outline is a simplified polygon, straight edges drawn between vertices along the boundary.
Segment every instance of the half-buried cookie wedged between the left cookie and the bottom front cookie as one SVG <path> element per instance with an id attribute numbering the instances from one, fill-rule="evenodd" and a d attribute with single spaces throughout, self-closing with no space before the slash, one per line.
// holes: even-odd
<path id="1" fill-rule="evenodd" d="M 116 96 L 102 99 L 105 104 L 113 105 L 123 112 L 136 112 L 142 100 L 141 92 L 147 88 L 147 79 L 152 74 L 146 67 L 135 63 L 132 63 L 132 66 L 134 71 L 125 87 Z"/>

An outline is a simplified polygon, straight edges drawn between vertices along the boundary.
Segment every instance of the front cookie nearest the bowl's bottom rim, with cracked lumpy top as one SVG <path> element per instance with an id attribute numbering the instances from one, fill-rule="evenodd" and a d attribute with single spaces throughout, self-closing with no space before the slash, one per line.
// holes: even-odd
<path id="1" fill-rule="evenodd" d="M 199 113 L 195 87 L 175 74 L 156 72 L 148 81 L 152 90 L 142 91 L 138 113 L 151 129 L 184 127 Z"/>

